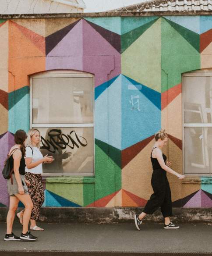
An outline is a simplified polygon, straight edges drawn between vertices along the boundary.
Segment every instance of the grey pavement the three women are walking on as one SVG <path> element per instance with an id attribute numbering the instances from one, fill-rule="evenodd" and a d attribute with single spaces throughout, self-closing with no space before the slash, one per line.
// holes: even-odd
<path id="1" fill-rule="evenodd" d="M 163 224 L 40 224 L 45 231 L 33 231 L 36 242 L 5 242 L 6 224 L 0 223 L 0 255 L 210 255 L 212 225 L 182 224 L 180 229 L 165 230 Z M 14 224 L 14 234 L 21 226 Z"/>

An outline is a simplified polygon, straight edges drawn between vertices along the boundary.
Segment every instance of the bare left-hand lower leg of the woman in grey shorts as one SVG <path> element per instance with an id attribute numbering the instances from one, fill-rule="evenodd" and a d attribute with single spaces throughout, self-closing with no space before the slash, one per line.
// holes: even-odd
<path id="1" fill-rule="evenodd" d="M 18 208 L 19 199 L 16 196 L 10 196 L 10 207 L 7 213 L 7 234 L 12 233 L 15 211 Z"/>

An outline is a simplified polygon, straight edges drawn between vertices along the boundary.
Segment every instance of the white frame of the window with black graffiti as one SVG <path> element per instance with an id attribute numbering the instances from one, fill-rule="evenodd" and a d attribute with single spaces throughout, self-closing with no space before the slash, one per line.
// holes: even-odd
<path id="1" fill-rule="evenodd" d="M 36 78 L 93 78 L 93 123 L 84 124 L 33 124 L 32 123 L 32 79 Z M 93 128 L 93 172 L 92 173 L 42 173 L 43 177 L 67 177 L 67 176 L 95 176 L 95 77 L 93 74 L 73 70 L 44 71 L 29 77 L 29 103 L 30 103 L 30 128 L 72 128 L 92 127 Z"/>

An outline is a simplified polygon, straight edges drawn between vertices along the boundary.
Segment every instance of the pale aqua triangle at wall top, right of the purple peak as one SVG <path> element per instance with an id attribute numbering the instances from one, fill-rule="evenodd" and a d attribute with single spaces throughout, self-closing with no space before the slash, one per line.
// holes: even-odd
<path id="1" fill-rule="evenodd" d="M 113 33 L 121 34 L 121 17 L 87 17 L 84 19 Z"/>

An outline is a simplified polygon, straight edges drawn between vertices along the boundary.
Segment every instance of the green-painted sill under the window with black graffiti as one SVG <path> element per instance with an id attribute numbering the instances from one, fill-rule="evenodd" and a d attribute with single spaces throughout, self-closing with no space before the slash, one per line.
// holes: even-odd
<path id="1" fill-rule="evenodd" d="M 46 183 L 95 183 L 94 177 L 51 177 Z"/>

